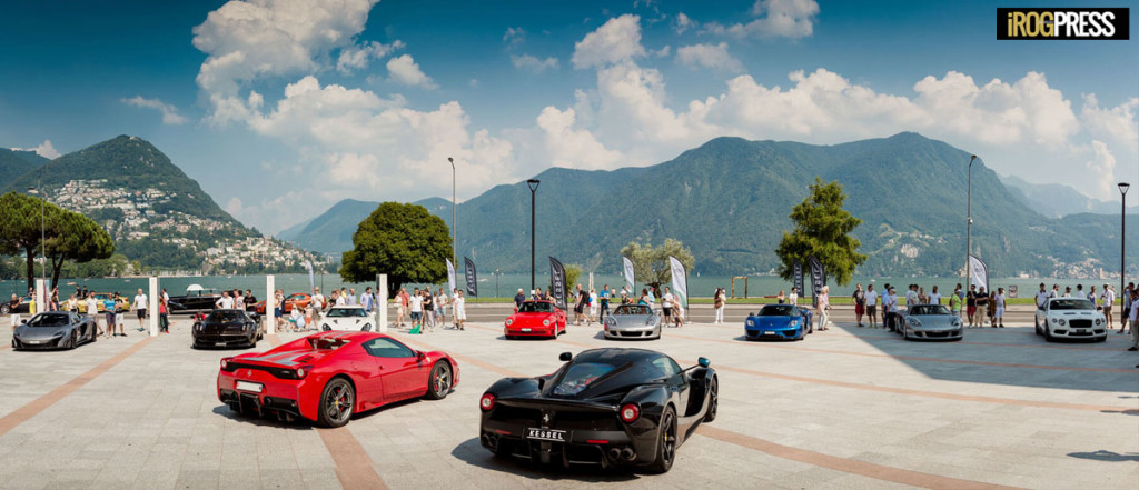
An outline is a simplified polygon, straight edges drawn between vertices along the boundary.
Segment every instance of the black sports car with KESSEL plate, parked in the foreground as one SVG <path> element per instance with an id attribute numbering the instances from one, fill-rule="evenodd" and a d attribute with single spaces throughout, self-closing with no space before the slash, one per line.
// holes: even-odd
<path id="1" fill-rule="evenodd" d="M 593 349 L 554 374 L 506 377 L 478 400 L 478 441 L 494 455 L 540 463 L 664 473 L 702 422 L 715 420 L 708 360 L 681 369 L 645 349 Z"/>

